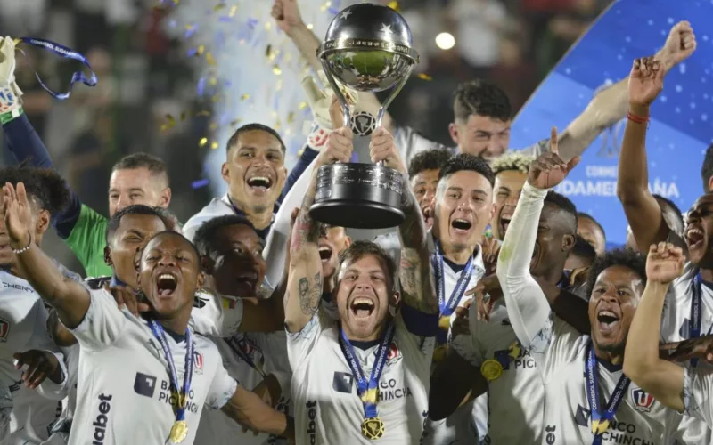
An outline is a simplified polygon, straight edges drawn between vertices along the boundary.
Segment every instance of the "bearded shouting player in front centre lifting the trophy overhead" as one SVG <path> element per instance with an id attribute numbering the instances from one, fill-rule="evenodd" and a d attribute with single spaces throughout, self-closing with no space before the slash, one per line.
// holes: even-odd
<path id="1" fill-rule="evenodd" d="M 348 161 L 351 156 L 348 128 L 329 137 L 334 143 L 320 153 L 318 166 Z M 384 160 L 406 175 L 390 134 L 378 129 L 372 142 L 373 162 Z M 400 308 L 393 260 L 381 247 L 357 241 L 340 256 L 335 273 L 332 295 L 340 320 L 320 316 L 320 224 L 312 221 L 308 211 L 315 199 L 318 166 L 292 233 L 285 295 L 298 442 L 414 443 L 422 434 L 428 410 L 432 336 L 438 317 L 421 210 L 413 192 L 405 190 L 406 221 L 399 227 Z"/>

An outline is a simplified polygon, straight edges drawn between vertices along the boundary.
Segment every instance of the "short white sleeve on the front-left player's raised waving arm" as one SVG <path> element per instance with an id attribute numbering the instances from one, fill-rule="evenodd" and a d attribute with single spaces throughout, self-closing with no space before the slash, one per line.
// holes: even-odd
<path id="1" fill-rule="evenodd" d="M 127 326 L 127 315 L 117 306 L 114 297 L 104 289 L 90 290 L 91 302 L 84 320 L 70 329 L 79 344 L 88 350 L 99 351 L 116 341 Z"/>

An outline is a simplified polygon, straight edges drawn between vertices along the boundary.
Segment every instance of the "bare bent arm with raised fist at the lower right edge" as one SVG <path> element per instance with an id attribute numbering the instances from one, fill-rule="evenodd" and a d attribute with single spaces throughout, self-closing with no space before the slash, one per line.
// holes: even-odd
<path id="1" fill-rule="evenodd" d="M 624 374 L 670 409 L 683 411 L 684 368 L 659 357 L 660 320 L 668 287 L 684 271 L 680 247 L 659 243 L 649 248 L 646 288 L 631 321 L 624 353 Z"/>

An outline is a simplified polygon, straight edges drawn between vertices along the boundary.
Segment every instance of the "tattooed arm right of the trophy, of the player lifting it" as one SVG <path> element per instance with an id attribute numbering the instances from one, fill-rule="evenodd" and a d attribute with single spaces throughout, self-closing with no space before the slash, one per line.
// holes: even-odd
<path id="1" fill-rule="evenodd" d="M 404 190 L 401 209 L 406 214 L 406 220 L 398 226 L 398 237 L 401 239 L 401 263 L 398 268 L 401 297 L 404 304 L 420 312 L 437 314 L 438 299 L 430 270 L 426 226 L 411 187 L 406 186 Z"/>

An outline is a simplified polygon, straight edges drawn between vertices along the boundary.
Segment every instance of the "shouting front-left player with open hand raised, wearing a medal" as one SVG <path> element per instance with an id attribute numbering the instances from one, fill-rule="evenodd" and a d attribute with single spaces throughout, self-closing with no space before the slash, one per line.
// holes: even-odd
<path id="1" fill-rule="evenodd" d="M 21 182 L 16 190 L 4 186 L 4 220 L 12 248 L 21 250 L 20 269 L 81 347 L 70 443 L 191 444 L 204 403 L 251 429 L 291 433 L 287 417 L 228 376 L 215 344 L 188 327 L 203 275 L 195 247 L 182 235 L 160 232 L 143 250 L 138 282 L 151 311 L 138 318 L 119 310 L 107 291 L 61 278 L 32 242 Z M 127 372 L 130 364 L 135 373 Z"/>

